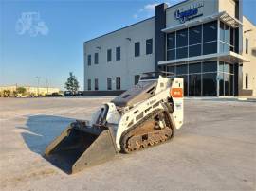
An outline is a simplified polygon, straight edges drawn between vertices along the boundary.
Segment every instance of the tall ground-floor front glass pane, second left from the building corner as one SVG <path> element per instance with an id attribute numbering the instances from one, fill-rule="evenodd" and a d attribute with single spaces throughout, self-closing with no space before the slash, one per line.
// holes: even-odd
<path id="1" fill-rule="evenodd" d="M 201 74 L 189 75 L 189 96 L 201 96 Z"/>

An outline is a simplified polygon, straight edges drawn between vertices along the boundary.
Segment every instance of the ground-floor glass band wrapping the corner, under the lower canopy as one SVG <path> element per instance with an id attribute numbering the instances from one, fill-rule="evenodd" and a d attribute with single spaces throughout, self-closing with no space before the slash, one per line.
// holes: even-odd
<path id="1" fill-rule="evenodd" d="M 173 72 L 175 77 L 184 78 L 184 96 L 218 96 L 218 92 L 219 96 L 234 96 L 234 69 L 230 63 L 181 63 L 167 66 L 167 71 Z"/>

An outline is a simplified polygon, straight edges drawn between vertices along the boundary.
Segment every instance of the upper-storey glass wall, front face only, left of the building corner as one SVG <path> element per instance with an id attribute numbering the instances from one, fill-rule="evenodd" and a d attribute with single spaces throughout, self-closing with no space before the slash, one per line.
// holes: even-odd
<path id="1" fill-rule="evenodd" d="M 167 34 L 166 60 L 217 53 L 217 21 Z"/>

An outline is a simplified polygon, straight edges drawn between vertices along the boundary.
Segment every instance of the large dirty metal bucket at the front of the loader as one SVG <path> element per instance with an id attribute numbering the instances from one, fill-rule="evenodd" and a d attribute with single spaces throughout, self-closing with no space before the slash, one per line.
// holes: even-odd
<path id="1" fill-rule="evenodd" d="M 72 174 L 106 162 L 117 152 L 110 128 L 68 127 L 46 148 L 45 156 L 50 163 Z"/>

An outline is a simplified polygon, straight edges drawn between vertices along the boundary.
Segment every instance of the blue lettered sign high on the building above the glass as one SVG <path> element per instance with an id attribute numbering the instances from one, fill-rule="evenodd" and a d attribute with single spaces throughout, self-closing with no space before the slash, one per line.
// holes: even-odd
<path id="1" fill-rule="evenodd" d="M 177 9 L 174 12 L 175 19 L 179 20 L 180 23 L 185 23 L 193 18 L 200 17 L 203 13 L 198 14 L 198 9 L 204 7 L 203 2 L 192 4 L 189 9 Z"/>

